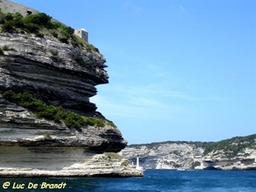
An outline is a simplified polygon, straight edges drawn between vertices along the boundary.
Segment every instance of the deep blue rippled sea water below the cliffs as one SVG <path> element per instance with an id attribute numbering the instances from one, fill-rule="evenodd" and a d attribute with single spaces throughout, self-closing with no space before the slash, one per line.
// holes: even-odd
<path id="1" fill-rule="evenodd" d="M 0 178 L 0 192 L 255 192 L 256 171 L 146 170 L 144 177 Z"/>

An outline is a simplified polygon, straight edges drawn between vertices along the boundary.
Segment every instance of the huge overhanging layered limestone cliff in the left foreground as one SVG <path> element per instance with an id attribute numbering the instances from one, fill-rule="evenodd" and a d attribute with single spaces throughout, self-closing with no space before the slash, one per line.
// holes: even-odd
<path id="1" fill-rule="evenodd" d="M 0 176 L 143 175 L 129 161 L 102 154 L 119 152 L 127 142 L 90 102 L 96 85 L 108 84 L 98 49 L 45 27 L 29 32 L 8 26 L 15 20 L 9 18 L 0 18 Z M 26 108 L 26 101 L 21 105 L 5 96 L 9 91 L 27 93 L 52 110 Z M 48 118 L 57 110 L 58 119 Z"/>

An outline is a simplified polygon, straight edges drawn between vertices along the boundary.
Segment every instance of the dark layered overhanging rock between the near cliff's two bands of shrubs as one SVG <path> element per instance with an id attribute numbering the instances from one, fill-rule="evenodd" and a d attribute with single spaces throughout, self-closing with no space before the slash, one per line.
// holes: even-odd
<path id="1" fill-rule="evenodd" d="M 97 84 L 108 83 L 102 55 L 61 44 L 54 37 L 38 38 L 33 34 L 2 33 L 3 46 L 10 50 L 0 55 L 1 90 L 28 90 L 49 104 L 77 113 L 95 113 L 96 105 L 89 97 L 96 95 Z M 91 64 L 79 66 L 74 61 L 76 56 Z"/>

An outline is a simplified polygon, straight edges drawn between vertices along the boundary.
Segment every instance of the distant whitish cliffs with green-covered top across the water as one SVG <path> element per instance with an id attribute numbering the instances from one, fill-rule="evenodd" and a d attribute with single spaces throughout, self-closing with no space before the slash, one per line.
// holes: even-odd
<path id="1" fill-rule="evenodd" d="M 120 154 L 148 169 L 256 170 L 256 135 L 218 143 L 166 142 L 131 145 Z"/>

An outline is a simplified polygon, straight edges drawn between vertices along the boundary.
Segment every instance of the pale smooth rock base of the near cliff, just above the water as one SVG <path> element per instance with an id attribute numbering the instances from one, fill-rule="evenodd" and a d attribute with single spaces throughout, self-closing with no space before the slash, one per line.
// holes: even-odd
<path id="1" fill-rule="evenodd" d="M 113 153 L 84 148 L 1 146 L 0 177 L 134 177 L 143 172 Z"/>

